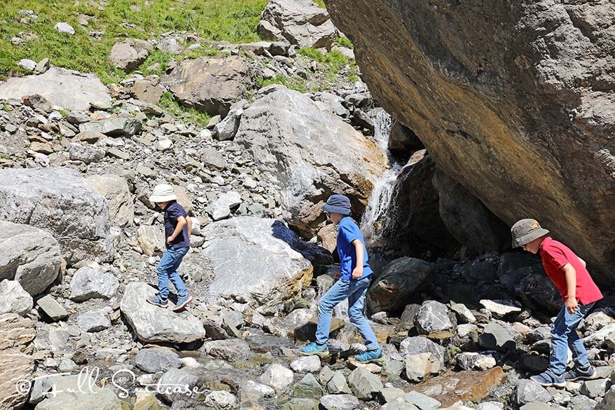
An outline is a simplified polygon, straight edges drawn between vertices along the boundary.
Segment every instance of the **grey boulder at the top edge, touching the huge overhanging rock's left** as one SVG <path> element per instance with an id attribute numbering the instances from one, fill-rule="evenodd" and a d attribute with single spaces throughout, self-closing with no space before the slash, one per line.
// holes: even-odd
<path id="1" fill-rule="evenodd" d="M 326 9 L 312 0 L 270 0 L 256 32 L 273 41 L 289 41 L 301 48 L 331 48 L 339 35 Z"/>

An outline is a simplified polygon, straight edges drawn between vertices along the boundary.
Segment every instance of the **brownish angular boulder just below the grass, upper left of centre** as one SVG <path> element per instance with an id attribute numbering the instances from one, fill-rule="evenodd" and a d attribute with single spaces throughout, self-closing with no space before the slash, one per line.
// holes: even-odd
<path id="1" fill-rule="evenodd" d="M 249 66 L 237 55 L 184 60 L 161 82 L 181 104 L 212 116 L 226 116 L 251 84 Z"/>

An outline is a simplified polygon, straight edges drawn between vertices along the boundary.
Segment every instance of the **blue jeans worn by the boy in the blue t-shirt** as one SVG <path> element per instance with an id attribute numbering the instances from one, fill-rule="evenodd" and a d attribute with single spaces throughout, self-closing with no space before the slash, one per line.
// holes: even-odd
<path id="1" fill-rule="evenodd" d="M 344 299 L 348 299 L 348 316 L 350 322 L 359 329 L 361 337 L 365 341 L 368 350 L 378 349 L 378 340 L 369 326 L 363 313 L 365 305 L 365 294 L 371 282 L 371 275 L 364 276 L 358 280 L 338 280 L 329 289 L 320 303 L 318 303 L 318 326 L 316 329 L 316 342 L 324 344 L 329 340 L 329 329 L 331 328 L 331 314 L 333 308 Z"/>

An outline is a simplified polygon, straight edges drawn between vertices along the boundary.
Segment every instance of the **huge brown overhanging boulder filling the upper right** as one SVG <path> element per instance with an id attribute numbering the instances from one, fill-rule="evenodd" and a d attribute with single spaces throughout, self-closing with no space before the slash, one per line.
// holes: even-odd
<path id="1" fill-rule="evenodd" d="M 509 226 L 537 218 L 611 283 L 612 1 L 325 3 L 375 99 L 438 168 Z"/>

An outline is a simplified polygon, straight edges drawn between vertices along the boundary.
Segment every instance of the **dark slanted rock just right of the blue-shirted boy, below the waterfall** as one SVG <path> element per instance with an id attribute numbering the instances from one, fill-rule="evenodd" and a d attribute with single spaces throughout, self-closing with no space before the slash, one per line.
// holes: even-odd
<path id="1" fill-rule="evenodd" d="M 402 310 L 415 289 L 429 280 L 433 270 L 434 264 L 421 259 L 395 259 L 382 269 L 369 289 L 368 305 L 374 313 Z"/>

